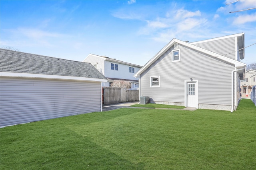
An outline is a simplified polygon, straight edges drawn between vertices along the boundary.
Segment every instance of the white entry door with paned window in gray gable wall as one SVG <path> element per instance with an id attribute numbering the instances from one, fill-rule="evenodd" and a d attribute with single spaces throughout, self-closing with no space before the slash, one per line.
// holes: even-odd
<path id="1" fill-rule="evenodd" d="M 187 107 L 198 107 L 198 85 L 197 82 L 187 82 Z"/>

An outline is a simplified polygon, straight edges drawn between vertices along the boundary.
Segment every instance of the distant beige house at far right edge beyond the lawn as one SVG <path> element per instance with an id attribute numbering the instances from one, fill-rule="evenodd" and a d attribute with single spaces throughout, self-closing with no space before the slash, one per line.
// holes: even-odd
<path id="1" fill-rule="evenodd" d="M 248 97 L 251 94 L 252 86 L 256 85 L 256 70 L 247 70 L 244 81 L 241 83 L 242 97 Z"/>

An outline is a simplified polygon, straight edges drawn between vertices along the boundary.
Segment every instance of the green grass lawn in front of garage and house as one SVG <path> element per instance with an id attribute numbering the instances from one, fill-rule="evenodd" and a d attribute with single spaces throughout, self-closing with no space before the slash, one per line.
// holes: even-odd
<path id="1" fill-rule="evenodd" d="M 253 170 L 256 107 L 123 108 L 0 129 L 0 169 Z"/>

